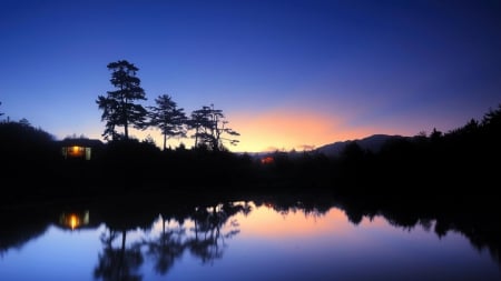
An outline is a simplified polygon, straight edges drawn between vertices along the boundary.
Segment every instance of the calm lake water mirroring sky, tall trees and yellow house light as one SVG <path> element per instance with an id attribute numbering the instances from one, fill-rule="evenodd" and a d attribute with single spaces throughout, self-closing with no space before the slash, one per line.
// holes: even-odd
<path id="1" fill-rule="evenodd" d="M 0 280 L 501 280 L 489 250 L 435 223 L 266 200 L 29 211 L 0 231 Z"/>

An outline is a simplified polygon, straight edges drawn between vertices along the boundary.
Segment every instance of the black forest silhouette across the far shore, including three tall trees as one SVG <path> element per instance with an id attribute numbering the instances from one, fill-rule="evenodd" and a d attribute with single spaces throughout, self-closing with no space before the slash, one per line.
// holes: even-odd
<path id="1" fill-rule="evenodd" d="M 57 141 L 26 119 L 0 121 L 4 187 L 0 205 L 109 194 L 317 189 L 397 200 L 444 194 L 450 201 L 472 195 L 482 197 L 479 202 L 499 198 L 501 103 L 482 120 L 471 119 L 449 132 L 433 129 L 430 134 L 390 138 L 377 151 L 351 141 L 337 155 L 312 150 L 276 151 L 263 158 L 225 147 L 238 143 L 239 133 L 227 127 L 223 111 L 214 104 L 188 117 L 169 94 L 161 94 L 155 107 L 145 108 L 139 103 L 147 99 L 137 77 L 139 69 L 126 60 L 107 68 L 114 89 L 96 100 L 107 142 L 92 148 L 91 159 L 71 159 L 61 151 L 65 143 L 85 142 L 85 137 Z M 150 138 L 129 136 L 129 127 L 160 130 L 163 148 Z M 186 138 L 188 132 L 195 139 L 191 148 L 166 145 L 167 139 Z"/>

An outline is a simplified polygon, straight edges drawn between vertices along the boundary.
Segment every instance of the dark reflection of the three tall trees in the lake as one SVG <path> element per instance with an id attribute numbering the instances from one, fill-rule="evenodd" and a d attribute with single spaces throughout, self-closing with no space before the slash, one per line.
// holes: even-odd
<path id="1" fill-rule="evenodd" d="M 165 275 L 185 250 L 203 264 L 212 263 L 223 257 L 225 240 L 239 233 L 238 222 L 230 219 L 239 212 L 248 214 L 250 205 L 225 202 L 195 207 L 183 214 L 160 214 L 161 230 L 158 235 L 145 235 L 129 247 L 126 243 L 127 230 L 108 229 L 101 235 L 104 249 L 98 255 L 94 275 L 110 281 L 141 280 L 137 272 L 145 257 L 154 260 L 155 272 Z M 187 229 L 186 220 L 190 220 L 194 227 Z M 114 241 L 120 235 L 121 245 L 114 247 Z"/>

